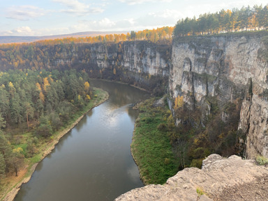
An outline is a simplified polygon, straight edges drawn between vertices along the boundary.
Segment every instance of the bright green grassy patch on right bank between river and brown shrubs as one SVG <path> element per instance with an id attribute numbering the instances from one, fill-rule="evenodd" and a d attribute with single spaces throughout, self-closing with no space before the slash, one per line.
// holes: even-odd
<path id="1" fill-rule="evenodd" d="M 172 146 L 168 137 L 167 106 L 154 107 L 155 99 L 145 101 L 135 122 L 131 150 L 139 166 L 144 184 L 163 184 L 177 173 Z"/>

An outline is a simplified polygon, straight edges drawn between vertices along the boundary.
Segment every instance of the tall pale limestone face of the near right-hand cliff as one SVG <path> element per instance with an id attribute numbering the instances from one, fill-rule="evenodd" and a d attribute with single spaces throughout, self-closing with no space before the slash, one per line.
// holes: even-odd
<path id="1" fill-rule="evenodd" d="M 219 108 L 243 99 L 239 129 L 246 138 L 249 158 L 268 156 L 268 65 L 262 52 L 264 35 L 196 37 L 172 46 L 170 95 L 183 96 L 189 108 L 211 112 L 207 97 L 214 97 Z M 222 120 L 232 118 L 222 111 Z"/>

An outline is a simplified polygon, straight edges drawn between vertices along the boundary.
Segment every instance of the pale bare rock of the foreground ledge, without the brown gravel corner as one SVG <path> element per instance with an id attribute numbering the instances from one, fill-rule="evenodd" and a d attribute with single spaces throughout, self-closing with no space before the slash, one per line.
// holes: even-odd
<path id="1" fill-rule="evenodd" d="M 211 154 L 204 160 L 202 170 L 185 168 L 170 177 L 163 185 L 149 185 L 125 193 L 115 201 L 130 200 L 198 200 L 197 189 L 204 191 L 201 201 L 213 200 L 224 190 L 242 184 L 251 184 L 256 178 L 268 175 L 268 168 L 257 166 L 253 160 L 242 160 L 239 156 L 223 159 Z M 250 191 L 250 189 L 248 189 Z"/>

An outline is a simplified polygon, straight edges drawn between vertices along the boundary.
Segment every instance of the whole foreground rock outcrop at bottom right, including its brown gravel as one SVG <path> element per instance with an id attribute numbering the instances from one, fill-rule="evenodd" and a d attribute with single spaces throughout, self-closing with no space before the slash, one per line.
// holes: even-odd
<path id="1" fill-rule="evenodd" d="M 267 178 L 268 168 L 258 166 L 255 160 L 242 160 L 234 155 L 223 159 L 218 154 L 211 154 L 203 161 L 202 170 L 186 168 L 164 185 L 136 188 L 114 201 L 267 200 Z"/>

